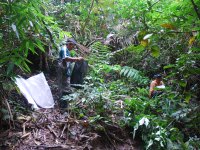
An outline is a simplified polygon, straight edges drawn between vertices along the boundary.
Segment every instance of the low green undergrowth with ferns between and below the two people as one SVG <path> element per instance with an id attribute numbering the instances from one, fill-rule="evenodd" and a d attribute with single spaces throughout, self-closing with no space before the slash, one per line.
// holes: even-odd
<path id="1" fill-rule="evenodd" d="M 140 137 L 144 149 L 198 149 L 199 106 L 184 101 L 167 87 L 155 99 L 148 98 L 149 79 L 128 66 L 110 65 L 110 51 L 94 43 L 89 56 L 90 71 L 85 88 L 79 91 L 80 103 L 71 98 L 71 110 L 91 124 L 104 121 L 128 126 L 133 139 Z M 72 95 L 71 95 L 72 96 Z M 65 97 L 70 99 L 70 95 Z M 79 103 L 79 104 L 80 104 Z"/>

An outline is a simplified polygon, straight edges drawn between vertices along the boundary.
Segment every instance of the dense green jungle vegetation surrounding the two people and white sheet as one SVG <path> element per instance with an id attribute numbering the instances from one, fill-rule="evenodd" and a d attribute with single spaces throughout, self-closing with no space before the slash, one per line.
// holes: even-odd
<path id="1" fill-rule="evenodd" d="M 109 34 L 114 39 L 105 45 Z M 141 149 L 200 149 L 199 0 L 1 0 L 0 139 L 7 130 L 24 129 L 16 126 L 19 116 L 32 113 L 14 77 L 43 71 L 55 79 L 65 36 L 90 53 L 74 52 L 88 61 L 89 72 L 84 89 L 62 100 L 69 101 L 71 118 L 84 118 L 108 139 L 107 149 L 119 149 L 116 143 L 126 138 L 139 140 Z M 150 99 L 156 73 L 166 89 Z M 113 134 L 119 128 L 129 134 Z"/>

